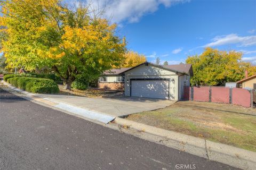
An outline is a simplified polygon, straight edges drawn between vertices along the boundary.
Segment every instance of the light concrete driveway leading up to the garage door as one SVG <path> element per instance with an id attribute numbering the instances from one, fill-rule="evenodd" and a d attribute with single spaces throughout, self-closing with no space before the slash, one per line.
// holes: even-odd
<path id="1" fill-rule="evenodd" d="M 149 98 L 88 98 L 65 95 L 40 95 L 50 101 L 65 103 L 111 116 L 125 116 L 132 113 L 151 111 L 170 106 L 174 101 Z"/>

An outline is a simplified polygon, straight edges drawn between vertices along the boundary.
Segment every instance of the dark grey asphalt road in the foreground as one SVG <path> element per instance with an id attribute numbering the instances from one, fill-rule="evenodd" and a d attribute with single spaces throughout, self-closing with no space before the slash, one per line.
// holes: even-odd
<path id="1" fill-rule="evenodd" d="M 0 169 L 235 169 L 3 90 L 0 141 Z"/>

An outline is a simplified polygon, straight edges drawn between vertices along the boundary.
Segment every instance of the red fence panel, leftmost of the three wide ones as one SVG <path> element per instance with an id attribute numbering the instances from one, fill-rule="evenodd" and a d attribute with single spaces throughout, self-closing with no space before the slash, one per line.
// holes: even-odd
<path id="1" fill-rule="evenodd" d="M 194 87 L 195 101 L 209 101 L 209 86 Z"/>

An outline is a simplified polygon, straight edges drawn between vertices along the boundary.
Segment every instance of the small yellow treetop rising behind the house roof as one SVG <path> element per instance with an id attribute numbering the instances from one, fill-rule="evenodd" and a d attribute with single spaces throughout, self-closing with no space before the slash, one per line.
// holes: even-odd
<path id="1" fill-rule="evenodd" d="M 124 55 L 125 61 L 123 67 L 134 67 L 146 62 L 146 56 L 137 52 L 129 51 Z"/>

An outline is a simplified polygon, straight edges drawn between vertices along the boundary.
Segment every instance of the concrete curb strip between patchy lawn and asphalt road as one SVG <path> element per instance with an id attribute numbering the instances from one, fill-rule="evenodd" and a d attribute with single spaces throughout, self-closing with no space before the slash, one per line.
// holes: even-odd
<path id="1" fill-rule="evenodd" d="M 169 147 L 242 169 L 256 169 L 256 152 L 191 137 L 154 126 L 115 118 L 115 123 L 166 138 Z M 166 143 L 165 142 L 165 143 Z"/>

